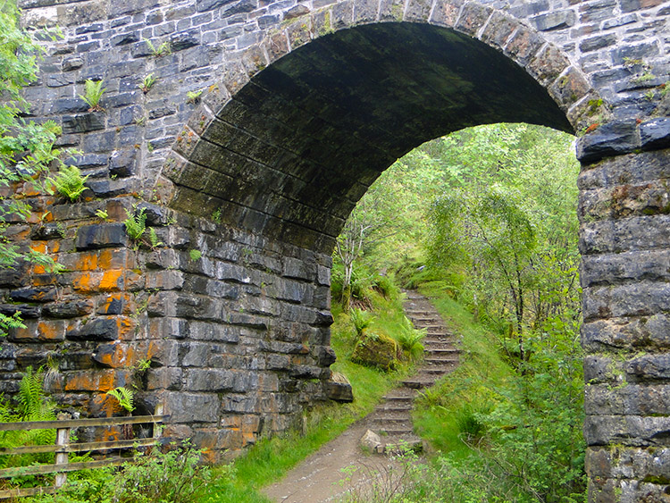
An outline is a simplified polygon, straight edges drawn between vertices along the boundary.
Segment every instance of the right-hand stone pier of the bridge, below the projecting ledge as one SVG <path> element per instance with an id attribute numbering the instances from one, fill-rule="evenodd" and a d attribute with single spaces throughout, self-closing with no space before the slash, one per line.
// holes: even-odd
<path id="1" fill-rule="evenodd" d="M 669 166 L 670 150 L 632 153 L 579 179 L 592 502 L 668 498 Z"/>

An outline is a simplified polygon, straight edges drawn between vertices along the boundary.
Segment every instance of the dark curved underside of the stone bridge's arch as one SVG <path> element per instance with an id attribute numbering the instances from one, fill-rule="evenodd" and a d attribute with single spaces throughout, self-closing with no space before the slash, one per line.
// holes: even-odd
<path id="1" fill-rule="evenodd" d="M 234 227 L 328 253 L 398 157 L 494 122 L 573 131 L 527 71 L 474 38 L 406 22 L 342 29 L 258 72 L 216 112 L 170 176 L 171 205 L 220 209 Z"/>

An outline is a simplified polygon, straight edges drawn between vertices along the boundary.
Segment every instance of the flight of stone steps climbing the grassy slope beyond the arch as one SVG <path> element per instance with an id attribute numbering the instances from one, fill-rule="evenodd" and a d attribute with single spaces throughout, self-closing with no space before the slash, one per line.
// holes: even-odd
<path id="1" fill-rule="evenodd" d="M 402 386 L 389 391 L 373 412 L 375 432 L 380 434 L 387 452 L 401 440 L 413 449 L 421 448 L 422 440 L 415 435 L 412 425 L 414 399 L 419 390 L 432 386 L 458 365 L 456 337 L 448 331 L 431 302 L 415 291 L 406 291 L 403 307 L 415 328 L 427 329 L 427 335 L 423 339 L 423 364 L 413 376 L 402 381 Z"/>

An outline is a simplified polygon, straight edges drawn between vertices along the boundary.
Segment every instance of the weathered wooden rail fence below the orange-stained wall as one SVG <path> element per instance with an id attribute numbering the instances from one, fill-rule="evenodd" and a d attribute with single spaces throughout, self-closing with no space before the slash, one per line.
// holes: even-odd
<path id="1" fill-rule="evenodd" d="M 128 457 L 105 457 L 81 463 L 68 463 L 68 454 L 76 452 L 94 452 L 108 449 L 129 449 L 155 445 L 161 435 L 158 424 L 163 423 L 169 415 L 163 415 L 163 407 L 156 407 L 155 415 L 135 415 L 129 417 L 104 417 L 94 419 L 64 419 L 58 421 L 30 421 L 24 423 L 0 423 L 0 432 L 17 430 L 55 429 L 54 445 L 23 446 L 12 449 L 0 448 L 0 456 L 16 456 L 21 454 L 55 453 L 54 465 L 30 465 L 0 469 L 0 479 L 8 479 L 22 475 L 56 474 L 51 487 L 32 487 L 13 490 L 0 490 L 0 499 L 21 498 L 36 494 L 53 493 L 67 481 L 68 472 L 100 468 L 102 466 L 118 466 L 127 461 Z M 153 436 L 147 439 L 105 440 L 98 442 L 70 443 L 70 432 L 73 428 L 86 426 L 121 426 L 124 424 L 153 423 Z"/>

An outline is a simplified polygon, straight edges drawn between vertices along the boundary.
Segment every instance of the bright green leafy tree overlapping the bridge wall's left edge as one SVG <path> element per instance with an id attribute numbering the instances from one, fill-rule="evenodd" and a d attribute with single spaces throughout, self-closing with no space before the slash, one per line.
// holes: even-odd
<path id="1" fill-rule="evenodd" d="M 47 188 L 40 175 L 48 172 L 52 163 L 62 165 L 63 155 L 54 148 L 56 136 L 61 133 L 53 121 L 41 124 L 27 122 L 23 115 L 29 112 L 28 102 L 21 89 L 37 79 L 37 58 L 41 48 L 23 31 L 19 24 L 19 10 L 13 0 L 0 5 L 0 235 L 12 222 L 25 220 L 31 207 L 17 190 L 30 186 Z M 0 268 L 13 268 L 29 262 L 40 264 L 47 272 L 57 272 L 59 266 L 44 254 L 26 250 L 0 238 Z M 19 314 L 0 314 L 0 336 L 7 330 L 20 327 Z"/>

